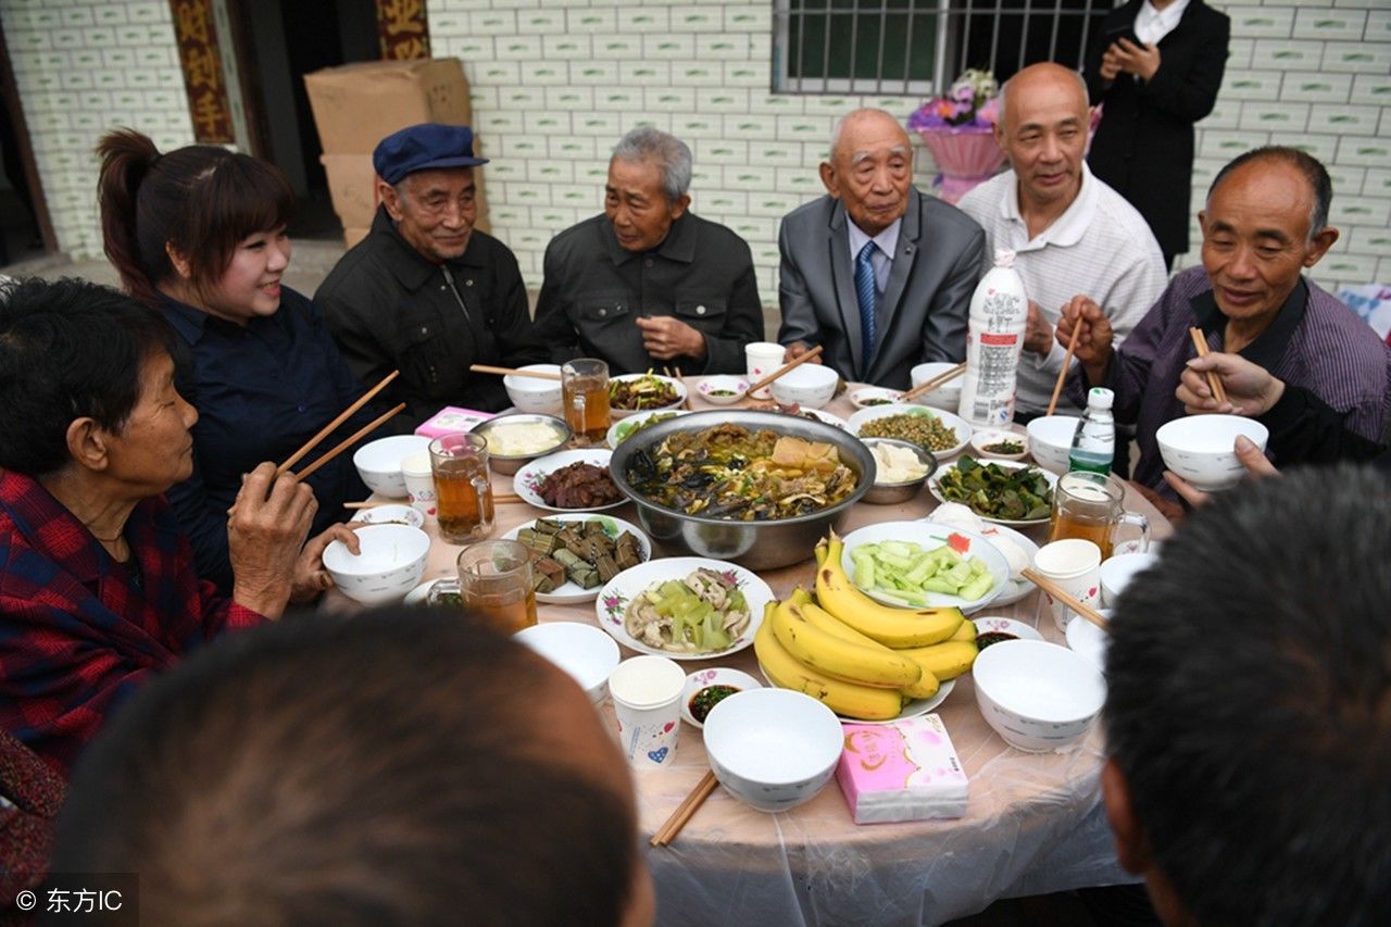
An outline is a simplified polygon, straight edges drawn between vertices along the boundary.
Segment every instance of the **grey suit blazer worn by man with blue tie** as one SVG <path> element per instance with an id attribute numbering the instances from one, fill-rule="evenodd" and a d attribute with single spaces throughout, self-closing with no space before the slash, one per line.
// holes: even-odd
<path id="1" fill-rule="evenodd" d="M 819 344 L 821 359 L 844 379 L 896 390 L 908 388 L 914 365 L 963 360 L 971 292 L 986 263 L 985 232 L 975 220 L 910 191 L 878 316 L 879 347 L 868 369 L 847 221 L 844 206 L 829 195 L 783 217 L 778 341 Z"/>

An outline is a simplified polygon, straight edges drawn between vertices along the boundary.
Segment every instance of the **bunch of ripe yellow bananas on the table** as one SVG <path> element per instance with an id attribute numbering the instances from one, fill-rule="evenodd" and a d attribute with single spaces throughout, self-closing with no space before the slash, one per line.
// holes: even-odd
<path id="1" fill-rule="evenodd" d="M 835 532 L 817 544 L 817 594 L 769 603 L 754 636 L 768 678 L 847 718 L 883 721 L 931 699 L 975 661 L 975 625 L 960 608 L 892 608 L 855 589 Z"/>

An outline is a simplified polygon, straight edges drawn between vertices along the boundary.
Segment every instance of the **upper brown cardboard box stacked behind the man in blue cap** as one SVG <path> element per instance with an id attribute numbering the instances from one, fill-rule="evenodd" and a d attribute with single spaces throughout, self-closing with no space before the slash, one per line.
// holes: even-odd
<path id="1" fill-rule="evenodd" d="M 371 153 L 416 122 L 470 125 L 469 82 L 458 58 L 360 61 L 305 75 L 319 141 L 330 154 Z"/>

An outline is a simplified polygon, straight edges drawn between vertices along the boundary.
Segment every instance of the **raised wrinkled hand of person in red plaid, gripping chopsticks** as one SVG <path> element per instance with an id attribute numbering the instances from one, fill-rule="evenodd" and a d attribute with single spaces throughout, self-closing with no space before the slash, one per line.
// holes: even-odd
<path id="1" fill-rule="evenodd" d="M 227 519 L 235 601 L 280 618 L 317 509 L 314 491 L 294 473 L 277 477 L 274 464 L 246 475 Z"/>

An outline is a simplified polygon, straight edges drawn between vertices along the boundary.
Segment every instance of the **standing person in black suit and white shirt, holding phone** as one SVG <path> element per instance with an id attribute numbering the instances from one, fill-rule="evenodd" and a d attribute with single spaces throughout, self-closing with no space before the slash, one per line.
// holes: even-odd
<path id="1" fill-rule="evenodd" d="M 1092 106 L 1104 103 L 1088 164 L 1145 217 L 1168 269 L 1188 251 L 1193 122 L 1217 100 L 1230 36 L 1203 0 L 1129 0 L 1086 56 Z"/>

